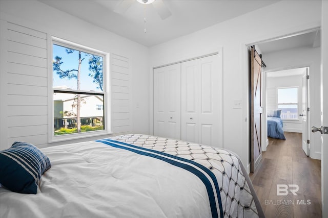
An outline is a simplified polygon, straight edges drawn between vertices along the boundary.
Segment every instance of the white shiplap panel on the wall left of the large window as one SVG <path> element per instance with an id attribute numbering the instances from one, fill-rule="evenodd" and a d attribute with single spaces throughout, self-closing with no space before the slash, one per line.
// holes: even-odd
<path id="1" fill-rule="evenodd" d="M 8 142 L 48 142 L 47 34 L 7 23 Z"/>

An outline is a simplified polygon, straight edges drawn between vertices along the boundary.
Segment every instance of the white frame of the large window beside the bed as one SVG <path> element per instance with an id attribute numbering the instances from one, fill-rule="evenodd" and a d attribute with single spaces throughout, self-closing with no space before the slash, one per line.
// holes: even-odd
<path id="1" fill-rule="evenodd" d="M 64 39 L 60 39 L 57 37 L 49 37 L 48 38 L 48 57 L 51 57 L 51 60 L 48 60 L 48 142 L 57 142 L 57 141 L 66 141 L 66 140 L 74 140 L 80 138 L 87 138 L 93 136 L 100 136 L 100 135 L 108 135 L 112 134 L 111 132 L 111 123 L 110 123 L 110 82 L 109 82 L 109 58 L 110 54 L 99 51 L 96 49 L 92 49 L 91 47 L 87 47 L 84 45 L 80 45 L 71 41 L 67 41 Z M 54 91 L 67 91 L 66 89 L 58 89 L 53 88 L 53 67 L 52 67 L 52 60 L 53 60 L 53 44 L 69 47 L 71 49 L 79 50 L 81 52 L 91 53 L 98 56 L 103 57 L 103 90 L 104 91 L 85 91 L 85 90 L 70 90 L 72 92 L 83 92 L 89 94 L 104 94 L 104 123 L 105 129 L 104 130 L 96 130 L 96 131 L 89 131 L 83 133 L 71 133 L 65 135 L 54 135 L 54 102 L 53 102 L 53 93 Z"/>

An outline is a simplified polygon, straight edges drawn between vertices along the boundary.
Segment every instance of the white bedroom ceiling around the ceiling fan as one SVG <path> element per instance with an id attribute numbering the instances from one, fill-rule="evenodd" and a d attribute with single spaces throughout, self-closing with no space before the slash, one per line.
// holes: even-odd
<path id="1" fill-rule="evenodd" d="M 142 5 L 135 0 L 125 0 L 132 4 L 124 13 L 114 12 L 122 0 L 38 1 L 117 35 L 146 46 L 153 46 L 271 5 L 279 0 L 163 0 L 165 7 L 172 13 L 166 19 L 159 17 L 152 4 Z M 146 26 L 144 17 L 146 17 Z"/>

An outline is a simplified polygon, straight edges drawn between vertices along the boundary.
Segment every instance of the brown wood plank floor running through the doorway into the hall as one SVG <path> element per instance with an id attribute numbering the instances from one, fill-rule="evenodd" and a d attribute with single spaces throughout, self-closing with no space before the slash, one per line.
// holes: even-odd
<path id="1" fill-rule="evenodd" d="M 321 161 L 306 157 L 301 133 L 285 136 L 286 140 L 269 138 L 260 166 L 250 174 L 265 217 L 322 217 Z M 278 196 L 277 184 L 298 185 L 297 196 L 291 191 Z"/>

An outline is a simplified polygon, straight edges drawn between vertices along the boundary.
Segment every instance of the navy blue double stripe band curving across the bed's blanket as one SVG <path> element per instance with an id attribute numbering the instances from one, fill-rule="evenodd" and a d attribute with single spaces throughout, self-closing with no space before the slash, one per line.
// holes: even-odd
<path id="1" fill-rule="evenodd" d="M 218 217 L 218 213 L 217 213 L 217 209 L 216 209 L 215 196 L 214 196 L 214 192 L 213 192 L 213 188 L 212 188 L 212 184 L 211 184 L 210 180 L 203 173 L 201 173 L 198 169 L 194 168 L 193 166 L 188 165 L 186 163 L 178 162 L 176 160 L 183 161 L 183 162 L 188 162 L 188 163 L 191 163 L 191 164 L 201 168 L 204 172 L 206 172 L 211 177 L 211 179 L 213 181 L 213 184 L 214 184 L 215 189 L 216 189 L 216 195 L 217 195 L 218 203 L 219 203 L 220 217 L 223 217 L 223 210 L 222 210 L 222 202 L 221 202 L 221 196 L 220 196 L 220 191 L 219 191 L 219 185 L 218 185 L 218 182 L 217 182 L 217 179 L 216 179 L 215 175 L 207 167 L 204 167 L 203 165 L 201 165 L 197 162 L 194 162 L 194 161 L 191 161 L 191 160 L 188 160 L 188 159 L 185 159 L 185 158 L 177 157 L 177 156 L 167 154 L 167 153 L 163 153 L 163 152 L 159 152 L 159 151 L 156 151 L 156 150 L 151 150 L 151 149 L 146 149 L 146 148 L 134 146 L 133 144 L 128 144 L 128 143 L 121 142 L 121 141 L 115 141 L 115 140 L 111 140 L 111 139 L 101 139 L 101 140 L 96 140 L 96 141 L 108 144 L 109 146 L 112 146 L 112 147 L 115 147 L 115 148 L 125 149 L 125 150 L 131 151 L 131 152 L 134 152 L 134 153 L 137 153 L 137 154 L 140 154 L 140 155 L 145 155 L 145 156 L 157 158 L 159 160 L 168 162 L 172 165 L 175 165 L 175 166 L 178 166 L 180 168 L 186 169 L 187 171 L 193 173 L 194 175 L 196 175 L 204 183 L 204 185 L 207 189 L 209 200 L 210 200 L 210 207 L 211 207 L 212 217 Z M 127 147 L 120 146 L 117 143 L 122 144 L 122 145 L 127 146 Z M 138 149 L 138 150 L 135 150 L 134 148 Z M 143 151 L 139 151 L 139 150 L 143 150 Z M 151 152 L 151 153 L 147 153 L 147 152 Z M 162 156 L 167 156 L 167 157 L 170 157 L 170 158 L 176 159 L 176 160 L 172 160 L 172 159 L 162 157 L 162 156 L 152 154 L 152 153 L 157 153 L 157 154 L 160 154 Z"/>

